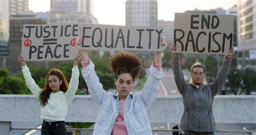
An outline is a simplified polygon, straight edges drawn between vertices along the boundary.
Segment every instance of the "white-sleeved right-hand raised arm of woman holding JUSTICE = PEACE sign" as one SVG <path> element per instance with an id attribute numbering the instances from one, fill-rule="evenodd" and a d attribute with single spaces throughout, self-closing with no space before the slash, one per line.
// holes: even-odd
<path id="1" fill-rule="evenodd" d="M 79 70 L 78 70 L 79 60 L 80 60 L 80 56 L 77 55 L 77 57 L 74 59 L 72 75 L 69 82 L 69 89 L 65 93 L 66 99 L 68 99 L 68 105 L 70 105 L 73 97 L 75 96 L 75 93 L 77 91 L 78 84 L 79 84 Z"/>

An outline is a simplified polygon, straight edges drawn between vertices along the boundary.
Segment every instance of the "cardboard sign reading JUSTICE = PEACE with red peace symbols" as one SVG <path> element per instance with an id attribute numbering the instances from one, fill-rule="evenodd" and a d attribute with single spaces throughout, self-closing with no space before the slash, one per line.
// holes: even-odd
<path id="1" fill-rule="evenodd" d="M 26 61 L 73 60 L 78 55 L 77 24 L 23 26 L 22 52 Z"/>

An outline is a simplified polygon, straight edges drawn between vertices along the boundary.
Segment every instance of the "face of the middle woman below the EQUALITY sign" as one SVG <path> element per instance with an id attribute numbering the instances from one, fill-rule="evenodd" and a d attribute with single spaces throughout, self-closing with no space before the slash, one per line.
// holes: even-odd
<path id="1" fill-rule="evenodd" d="M 119 99 L 125 99 L 133 87 L 132 76 L 130 73 L 122 73 L 114 81 L 114 84 L 116 85 Z"/>

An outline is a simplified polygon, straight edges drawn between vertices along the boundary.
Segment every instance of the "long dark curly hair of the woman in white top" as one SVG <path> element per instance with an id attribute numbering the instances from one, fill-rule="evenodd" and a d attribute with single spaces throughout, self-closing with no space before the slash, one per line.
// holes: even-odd
<path id="1" fill-rule="evenodd" d="M 58 69 L 51 69 L 48 72 L 48 75 L 46 77 L 46 82 L 45 82 L 43 91 L 41 92 L 41 94 L 39 96 L 39 101 L 41 103 L 41 106 L 45 106 L 48 103 L 48 99 L 50 98 L 50 94 L 52 92 L 52 90 L 49 86 L 49 82 L 48 82 L 48 78 L 50 75 L 55 75 L 59 78 L 59 80 L 62 80 L 62 85 L 60 85 L 60 87 L 59 87 L 60 91 L 66 92 L 69 87 L 66 77 L 63 75 L 62 71 L 60 71 Z"/>

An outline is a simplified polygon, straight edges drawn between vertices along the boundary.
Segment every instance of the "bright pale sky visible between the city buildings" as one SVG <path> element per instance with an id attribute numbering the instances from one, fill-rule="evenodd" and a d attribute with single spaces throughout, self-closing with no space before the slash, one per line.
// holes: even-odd
<path id="1" fill-rule="evenodd" d="M 92 0 L 93 16 L 99 24 L 125 25 L 126 0 Z M 138 0 L 139 1 L 139 0 Z M 157 0 L 158 19 L 174 21 L 175 12 L 186 10 L 230 9 L 237 0 Z M 29 0 L 29 9 L 34 12 L 49 11 L 50 0 Z"/>

